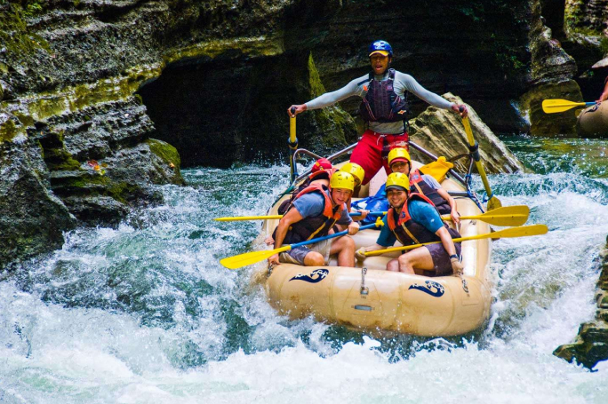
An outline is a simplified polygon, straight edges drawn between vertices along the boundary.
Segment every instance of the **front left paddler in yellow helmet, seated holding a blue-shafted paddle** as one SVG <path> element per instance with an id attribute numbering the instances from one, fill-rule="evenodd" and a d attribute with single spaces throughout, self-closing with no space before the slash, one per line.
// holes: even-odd
<path id="1" fill-rule="evenodd" d="M 355 189 L 355 179 L 347 172 L 338 171 L 330 179 L 329 189 L 320 184 L 304 189 L 276 226 L 275 248 L 284 244 L 304 242 L 329 234 L 332 226 L 348 227 L 348 234 L 356 234 L 359 225 L 348 215 L 346 202 Z M 308 246 L 275 254 L 269 265 L 279 262 L 306 266 L 326 265 L 330 255 L 338 255 L 338 265 L 355 266 L 355 242 L 348 236 L 316 242 Z"/>

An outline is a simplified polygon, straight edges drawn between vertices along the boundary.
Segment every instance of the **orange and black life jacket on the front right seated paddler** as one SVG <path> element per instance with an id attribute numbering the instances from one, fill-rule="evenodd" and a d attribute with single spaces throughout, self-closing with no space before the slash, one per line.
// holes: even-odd
<path id="1" fill-rule="evenodd" d="M 428 231 L 427 227 L 420 225 L 415 222 L 410 216 L 410 212 L 407 209 L 407 203 L 412 200 L 419 200 L 430 203 L 433 205 L 430 199 L 422 194 L 410 194 L 407 201 L 404 203 L 404 207 L 401 210 L 399 218 L 396 218 L 396 210 L 390 208 L 387 213 L 388 228 L 392 231 L 399 242 L 405 245 L 421 244 L 423 242 L 439 242 L 441 238 L 435 233 Z M 433 205 L 434 206 L 434 205 Z M 460 237 L 460 234 L 447 226 L 444 223 L 444 227 L 447 228 L 448 232 L 452 236 L 452 239 Z"/>

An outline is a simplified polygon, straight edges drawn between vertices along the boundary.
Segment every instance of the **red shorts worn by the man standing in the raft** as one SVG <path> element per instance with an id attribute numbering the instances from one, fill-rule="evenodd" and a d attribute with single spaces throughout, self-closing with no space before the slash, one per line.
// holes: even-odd
<path id="1" fill-rule="evenodd" d="M 404 147 L 409 151 L 408 139 L 407 132 L 397 135 L 384 135 L 370 130 L 364 132 L 350 156 L 350 162 L 356 162 L 365 170 L 364 185 L 370 182 L 382 166 L 387 175 L 390 174 L 388 152 L 396 147 Z"/>

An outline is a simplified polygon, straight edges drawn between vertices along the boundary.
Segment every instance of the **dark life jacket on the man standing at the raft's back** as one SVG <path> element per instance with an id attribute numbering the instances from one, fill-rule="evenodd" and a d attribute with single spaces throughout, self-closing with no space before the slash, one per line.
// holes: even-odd
<path id="1" fill-rule="evenodd" d="M 388 69 L 388 80 L 374 80 L 373 73 L 358 85 L 369 82 L 365 97 L 359 106 L 359 113 L 367 122 L 399 122 L 406 119 L 408 112 L 407 100 L 399 97 L 393 87 L 395 69 Z"/>

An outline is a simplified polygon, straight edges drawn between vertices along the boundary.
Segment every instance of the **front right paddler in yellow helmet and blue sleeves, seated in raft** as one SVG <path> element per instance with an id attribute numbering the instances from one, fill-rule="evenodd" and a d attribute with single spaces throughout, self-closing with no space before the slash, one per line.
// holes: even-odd
<path id="1" fill-rule="evenodd" d="M 438 242 L 409 250 L 387 264 L 387 271 L 416 273 L 425 276 L 461 275 L 460 242 L 452 238 L 460 234 L 449 228 L 426 196 L 410 193 L 410 181 L 405 174 L 394 172 L 387 179 L 387 197 L 391 208 L 384 217 L 378 241 L 356 251 L 363 260 L 364 252 L 383 250 L 398 240 L 404 246 L 423 242 Z"/>

